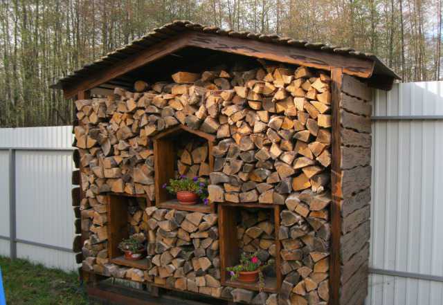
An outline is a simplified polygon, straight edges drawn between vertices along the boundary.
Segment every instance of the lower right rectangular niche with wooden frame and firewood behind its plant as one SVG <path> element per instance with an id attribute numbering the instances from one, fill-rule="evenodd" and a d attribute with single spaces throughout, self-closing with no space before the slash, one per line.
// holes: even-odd
<path id="1" fill-rule="evenodd" d="M 252 204 L 251 204 L 252 205 Z M 226 268 L 239 264 L 242 252 L 257 252 L 261 261 L 273 260 L 263 269 L 264 291 L 280 290 L 280 205 L 243 207 L 222 203 L 218 207 L 220 230 L 221 284 L 249 290 L 260 290 L 259 283 L 245 284 L 231 280 Z"/>

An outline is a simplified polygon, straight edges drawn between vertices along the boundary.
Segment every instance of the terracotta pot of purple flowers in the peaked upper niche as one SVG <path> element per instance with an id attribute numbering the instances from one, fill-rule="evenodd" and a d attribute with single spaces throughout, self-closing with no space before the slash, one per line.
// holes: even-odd
<path id="1" fill-rule="evenodd" d="M 163 188 L 171 194 L 177 195 L 177 200 L 182 205 L 195 205 L 199 199 L 208 204 L 208 182 L 204 178 L 188 178 L 181 175 L 178 179 L 170 179 Z"/>

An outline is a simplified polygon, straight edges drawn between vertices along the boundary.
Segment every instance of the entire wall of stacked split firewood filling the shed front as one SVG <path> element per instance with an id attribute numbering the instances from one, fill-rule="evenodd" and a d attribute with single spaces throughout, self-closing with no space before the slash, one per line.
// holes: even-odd
<path id="1" fill-rule="evenodd" d="M 277 304 L 277 299 L 279 304 L 327 302 L 329 77 L 305 67 L 264 64 L 242 72 L 178 72 L 172 80 L 172 84 L 152 86 L 136 82 L 135 93 L 116 88 L 107 98 L 75 102 L 75 145 L 85 194 L 81 224 L 90 233 L 83 247 L 85 270 L 215 297 L 244 295 L 238 288 L 220 286 L 219 273 L 224 270 L 219 269 L 217 216 L 213 214 L 148 207 L 139 219 L 134 212 L 128 219 L 134 223 L 130 230 L 147 232 L 152 266 L 142 272 L 109 264 L 105 242 L 109 211 L 103 195 L 147 194 L 154 201 L 152 137 L 183 124 L 216 136 L 214 170 L 209 172 L 207 144 L 195 141 L 179 149 L 177 176 L 209 176 L 213 203 L 284 208 L 279 232 L 266 231 L 273 226 L 268 218 L 253 225 L 266 224 L 260 228 L 260 237 L 251 237 L 246 233 L 250 228 L 245 227 L 241 238 L 246 250 L 281 255 L 282 290 L 266 295 L 266 304 Z M 188 219 L 193 217 L 199 221 Z M 274 234 L 282 243 L 280 254 L 273 254 L 275 246 L 267 238 Z M 264 296 L 246 294 L 251 295 L 250 302 Z"/>

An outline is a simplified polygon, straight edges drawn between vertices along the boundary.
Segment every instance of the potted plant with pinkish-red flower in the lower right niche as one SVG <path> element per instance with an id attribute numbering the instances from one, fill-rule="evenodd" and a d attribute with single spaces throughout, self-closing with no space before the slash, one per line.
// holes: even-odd
<path id="1" fill-rule="evenodd" d="M 226 270 L 229 271 L 232 281 L 238 279 L 238 281 L 244 283 L 255 283 L 258 279 L 260 279 L 260 282 L 263 281 L 262 267 L 264 267 L 264 265 L 262 261 L 258 259 L 257 253 L 242 253 L 240 264 L 228 267 Z"/>

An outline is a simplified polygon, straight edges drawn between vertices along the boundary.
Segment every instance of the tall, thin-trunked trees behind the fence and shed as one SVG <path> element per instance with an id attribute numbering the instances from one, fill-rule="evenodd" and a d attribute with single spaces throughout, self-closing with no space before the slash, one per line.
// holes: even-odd
<path id="1" fill-rule="evenodd" d="M 0 1 L 0 127 L 72 124 L 72 100 L 50 86 L 174 19 L 356 48 L 379 56 L 404 82 L 437 80 L 442 70 L 441 3 Z"/>

